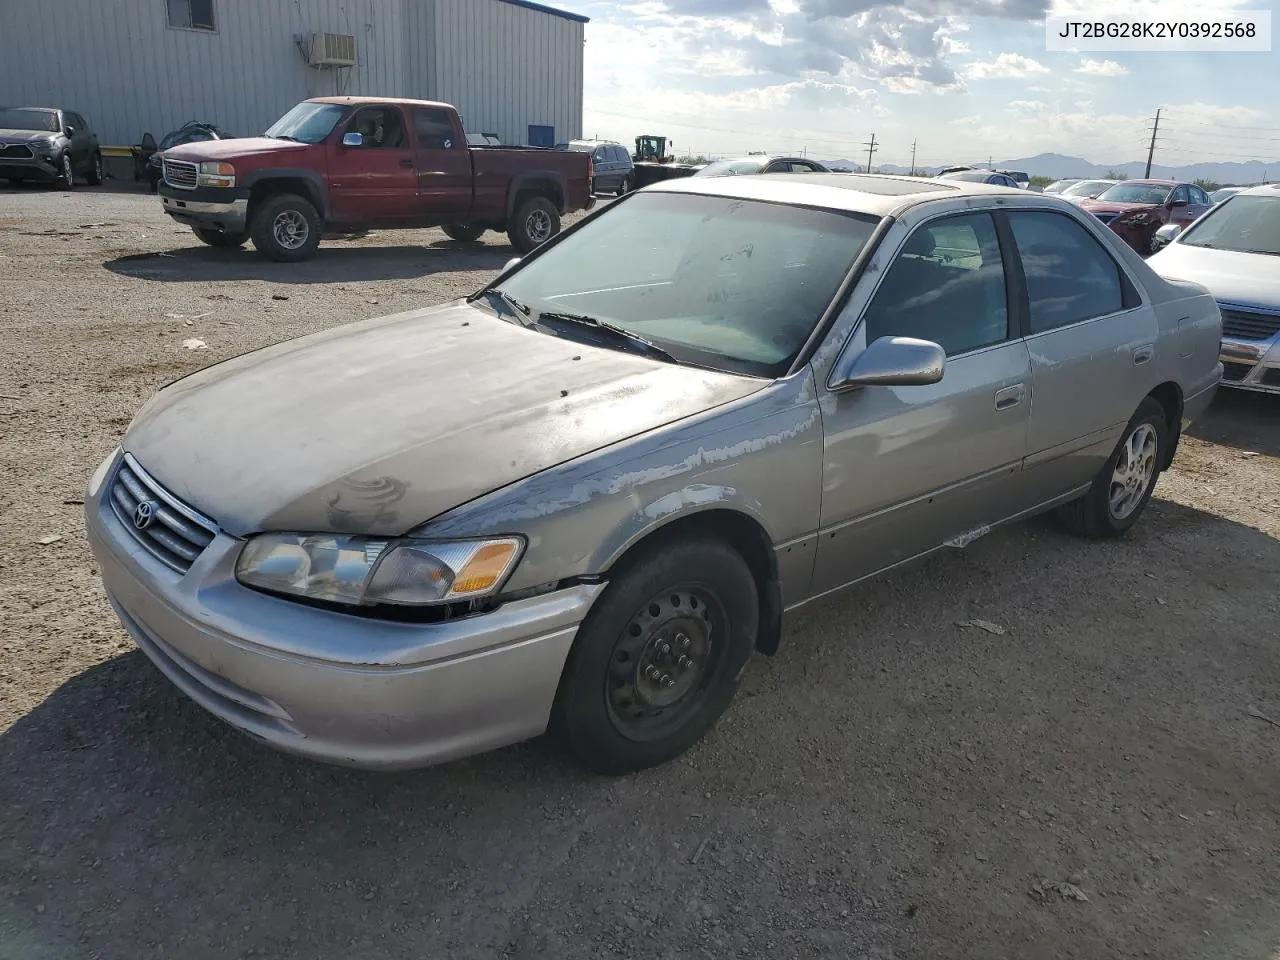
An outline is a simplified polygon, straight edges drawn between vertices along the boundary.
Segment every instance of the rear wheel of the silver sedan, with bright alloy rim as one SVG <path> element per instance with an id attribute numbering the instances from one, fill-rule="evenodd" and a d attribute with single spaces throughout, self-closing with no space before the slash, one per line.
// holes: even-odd
<path id="1" fill-rule="evenodd" d="M 1165 408 L 1147 397 L 1089 492 L 1059 508 L 1062 525 L 1091 540 L 1106 540 L 1129 530 L 1138 522 L 1156 489 L 1169 442 Z M 1137 463 L 1138 472 L 1125 471 L 1125 462 Z M 1121 489 L 1115 489 L 1117 486 Z M 1123 489 L 1125 486 L 1128 493 Z"/>

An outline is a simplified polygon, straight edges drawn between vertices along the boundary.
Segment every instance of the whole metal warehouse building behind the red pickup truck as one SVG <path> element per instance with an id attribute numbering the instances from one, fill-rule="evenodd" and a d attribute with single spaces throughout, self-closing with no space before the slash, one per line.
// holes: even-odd
<path id="1" fill-rule="evenodd" d="M 443 100 L 468 133 L 582 134 L 585 17 L 529 0 L 0 0 L 0 101 L 109 146 L 187 120 L 253 136 L 297 101 Z"/>

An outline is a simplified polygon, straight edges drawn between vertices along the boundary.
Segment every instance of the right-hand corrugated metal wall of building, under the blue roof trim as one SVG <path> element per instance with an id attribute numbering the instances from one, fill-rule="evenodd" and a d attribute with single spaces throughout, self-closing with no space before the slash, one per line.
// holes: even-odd
<path id="1" fill-rule="evenodd" d="M 413 3 L 413 0 L 408 0 Z M 430 0 L 431 99 L 453 104 L 467 132 L 525 143 L 530 124 L 558 141 L 582 136 L 581 23 L 500 0 Z"/>

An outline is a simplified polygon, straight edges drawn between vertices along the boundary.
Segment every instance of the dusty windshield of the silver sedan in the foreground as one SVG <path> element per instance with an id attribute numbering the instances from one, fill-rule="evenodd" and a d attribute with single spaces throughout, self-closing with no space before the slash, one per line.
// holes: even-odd
<path id="1" fill-rule="evenodd" d="M 566 234 L 500 289 L 562 335 L 591 332 L 539 315 L 600 320 L 677 362 L 781 376 L 876 224 L 864 214 L 636 193 Z M 617 339 L 603 343 L 622 348 Z"/>

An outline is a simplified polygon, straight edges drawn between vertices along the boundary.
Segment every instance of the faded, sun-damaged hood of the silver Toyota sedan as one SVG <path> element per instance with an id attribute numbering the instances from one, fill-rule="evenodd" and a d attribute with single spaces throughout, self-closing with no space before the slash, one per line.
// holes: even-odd
<path id="1" fill-rule="evenodd" d="M 527 330 L 458 301 L 206 367 L 157 393 L 123 445 L 237 536 L 398 535 L 764 384 Z"/>

